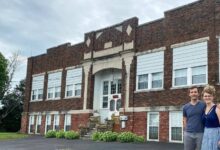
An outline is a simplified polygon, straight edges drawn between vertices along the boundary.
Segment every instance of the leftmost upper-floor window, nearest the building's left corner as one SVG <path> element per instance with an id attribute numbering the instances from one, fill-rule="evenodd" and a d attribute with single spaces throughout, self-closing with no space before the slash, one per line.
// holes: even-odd
<path id="1" fill-rule="evenodd" d="M 32 79 L 31 101 L 43 99 L 44 75 Z"/>

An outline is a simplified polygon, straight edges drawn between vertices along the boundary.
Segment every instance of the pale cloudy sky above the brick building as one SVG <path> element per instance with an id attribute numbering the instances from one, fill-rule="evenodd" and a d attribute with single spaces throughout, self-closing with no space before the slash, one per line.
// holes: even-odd
<path id="1" fill-rule="evenodd" d="M 197 0 L 0 0 L 0 52 L 19 53 L 13 84 L 25 79 L 27 58 L 50 47 L 83 42 L 84 34 L 138 17 L 139 24 Z"/>

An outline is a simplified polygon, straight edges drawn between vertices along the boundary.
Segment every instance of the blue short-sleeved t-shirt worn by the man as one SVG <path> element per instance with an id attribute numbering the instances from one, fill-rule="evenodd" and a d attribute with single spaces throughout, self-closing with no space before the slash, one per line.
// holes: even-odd
<path id="1" fill-rule="evenodd" d="M 204 132 L 202 115 L 204 113 L 205 106 L 205 103 L 201 101 L 198 101 L 195 105 L 187 103 L 183 106 L 183 117 L 186 117 L 187 120 L 185 131 L 192 133 Z"/>

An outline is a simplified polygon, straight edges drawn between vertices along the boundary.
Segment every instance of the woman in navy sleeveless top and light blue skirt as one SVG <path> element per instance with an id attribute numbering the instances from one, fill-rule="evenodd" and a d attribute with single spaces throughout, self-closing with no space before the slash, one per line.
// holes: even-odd
<path id="1" fill-rule="evenodd" d="M 202 91 L 202 96 L 206 104 L 202 116 L 205 126 L 202 150 L 218 150 L 218 140 L 220 137 L 220 109 L 216 107 L 213 102 L 215 97 L 214 86 L 207 85 Z"/>

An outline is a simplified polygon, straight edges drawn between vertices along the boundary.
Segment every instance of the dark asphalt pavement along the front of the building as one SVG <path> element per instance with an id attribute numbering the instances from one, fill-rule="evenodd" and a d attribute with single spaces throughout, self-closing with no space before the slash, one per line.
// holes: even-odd
<path id="1" fill-rule="evenodd" d="M 30 136 L 25 139 L 0 141 L 0 150 L 183 150 L 183 144 L 94 142 Z"/>

